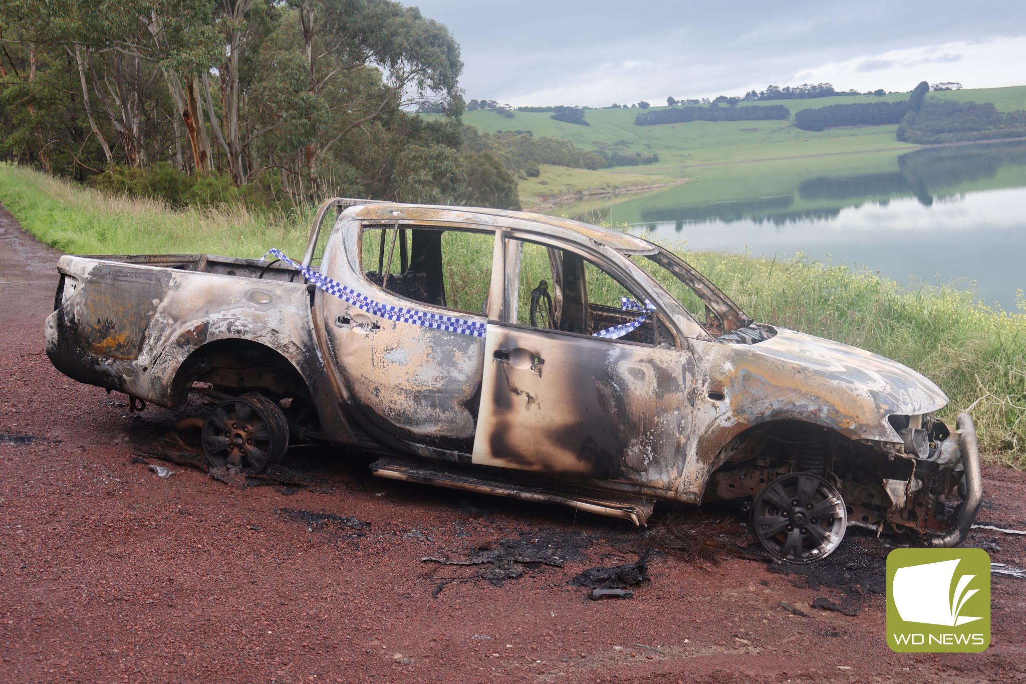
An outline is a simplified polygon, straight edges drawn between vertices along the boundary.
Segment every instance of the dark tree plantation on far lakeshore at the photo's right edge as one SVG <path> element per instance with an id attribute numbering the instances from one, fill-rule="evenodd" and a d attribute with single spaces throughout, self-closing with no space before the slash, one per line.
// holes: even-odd
<path id="1" fill-rule="evenodd" d="M 1026 137 L 1026 110 L 998 112 L 993 103 L 938 100 L 909 111 L 898 126 L 898 139 L 917 145 Z"/>

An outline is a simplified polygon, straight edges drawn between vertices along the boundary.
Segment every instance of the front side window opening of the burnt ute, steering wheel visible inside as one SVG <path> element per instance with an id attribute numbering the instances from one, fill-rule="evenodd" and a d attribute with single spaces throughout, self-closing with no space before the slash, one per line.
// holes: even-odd
<path id="1" fill-rule="evenodd" d="M 510 242 L 520 245 L 516 306 L 507 315 L 510 323 L 593 335 L 631 323 L 643 313 L 625 309 L 624 299 L 638 306 L 644 303 L 637 301 L 638 296 L 623 283 L 576 252 L 526 241 Z M 619 339 L 674 344 L 673 333 L 654 314 Z"/>

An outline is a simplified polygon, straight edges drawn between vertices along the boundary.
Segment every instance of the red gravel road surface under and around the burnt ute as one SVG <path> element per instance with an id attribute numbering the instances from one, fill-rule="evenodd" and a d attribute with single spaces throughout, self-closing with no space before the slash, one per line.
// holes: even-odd
<path id="1" fill-rule="evenodd" d="M 297 464 L 320 464 L 328 485 L 318 492 L 240 490 L 182 467 L 161 479 L 130 450 L 152 447 L 176 416 L 129 414 L 124 397 L 57 373 L 42 335 L 57 252 L 2 209 L 0 250 L 0 681 L 1026 679 L 1026 580 L 993 578 L 986 652 L 901 655 L 885 645 L 881 597 L 858 616 L 813 609 L 815 598 L 837 595 L 798 588 L 755 560 L 700 567 L 657 555 L 633 599 L 589 601 L 568 578 L 636 558 L 617 551 L 618 535 L 631 532 L 616 521 L 381 480 L 342 449 L 306 449 Z M 987 469 L 985 489 L 981 519 L 1026 527 L 1022 473 Z M 283 508 L 370 525 L 358 536 Z M 426 574 L 475 568 L 422 557 L 540 530 L 583 531 L 595 544 L 564 568 L 431 597 L 437 580 Z M 987 532 L 971 542 L 1026 564 L 1021 537 Z"/>

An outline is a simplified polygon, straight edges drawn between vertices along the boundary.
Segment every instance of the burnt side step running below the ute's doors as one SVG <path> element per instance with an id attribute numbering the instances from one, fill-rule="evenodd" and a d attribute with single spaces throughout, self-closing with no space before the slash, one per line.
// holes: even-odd
<path id="1" fill-rule="evenodd" d="M 385 456 L 370 464 L 370 471 L 379 477 L 393 480 L 423 482 L 450 489 L 519 498 L 524 501 L 561 504 L 579 511 L 630 520 L 635 525 L 643 525 L 655 506 L 654 500 L 640 496 L 614 494 L 553 482 L 538 484 L 537 480 L 536 483 L 528 485 L 512 479 L 488 477 L 492 473 L 477 473 L 444 464 L 422 464 L 393 456 Z"/>

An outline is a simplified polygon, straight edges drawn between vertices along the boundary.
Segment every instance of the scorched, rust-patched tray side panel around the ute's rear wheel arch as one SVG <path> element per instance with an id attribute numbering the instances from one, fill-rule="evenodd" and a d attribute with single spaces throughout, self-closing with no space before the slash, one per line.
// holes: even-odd
<path id="1" fill-rule="evenodd" d="M 208 258 L 193 255 L 186 263 Z M 174 406 L 188 392 L 188 383 L 177 374 L 191 354 L 218 340 L 253 341 L 284 356 L 303 375 L 312 395 L 321 400 L 318 411 L 328 434 L 353 440 L 324 374 L 304 283 L 131 260 L 135 263 L 60 259 L 61 272 L 81 285 L 45 323 L 47 354 L 58 370 L 83 383 Z M 183 264 L 167 257 L 154 260 Z M 240 271 L 264 269 L 252 259 L 238 261 Z M 104 320 L 104 311 L 112 321 L 107 336 L 101 336 L 105 328 L 95 324 L 96 318 Z"/>

